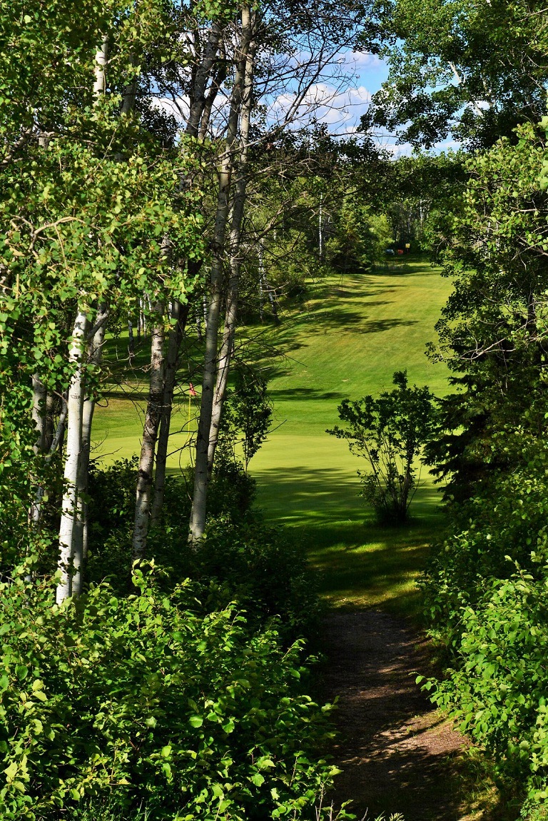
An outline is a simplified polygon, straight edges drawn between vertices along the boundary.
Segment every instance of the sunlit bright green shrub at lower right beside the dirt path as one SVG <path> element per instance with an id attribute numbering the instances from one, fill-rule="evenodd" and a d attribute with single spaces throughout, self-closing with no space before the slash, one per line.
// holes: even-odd
<path id="1" fill-rule="evenodd" d="M 526 785 L 529 806 L 548 799 L 548 565 L 536 576 L 518 569 L 491 580 L 462 608 L 459 665 L 445 681 L 427 683 L 500 774 Z"/>

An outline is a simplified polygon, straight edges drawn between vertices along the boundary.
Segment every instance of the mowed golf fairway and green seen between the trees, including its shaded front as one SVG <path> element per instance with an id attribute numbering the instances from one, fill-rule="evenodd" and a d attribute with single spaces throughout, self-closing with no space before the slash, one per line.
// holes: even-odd
<path id="1" fill-rule="evenodd" d="M 276 429 L 250 466 L 258 503 L 268 518 L 298 530 L 336 606 L 413 609 L 414 579 L 441 524 L 436 491 L 429 481 L 419 490 L 410 525 L 377 528 L 358 498 L 358 459 L 325 430 L 337 423 L 342 399 L 390 390 L 395 370 L 407 369 L 412 383 L 437 394 L 447 391 L 445 367 L 424 351 L 449 292 L 439 270 L 414 260 L 308 283 L 279 328 L 245 331 L 266 335 L 283 354 L 269 385 Z M 94 437 L 109 461 L 139 451 L 145 398 L 143 384 L 136 401 L 116 391 L 98 408 Z M 187 439 L 186 420 L 183 402 L 174 448 Z M 187 450 L 171 458 L 171 469 L 180 461 L 188 461 Z"/>

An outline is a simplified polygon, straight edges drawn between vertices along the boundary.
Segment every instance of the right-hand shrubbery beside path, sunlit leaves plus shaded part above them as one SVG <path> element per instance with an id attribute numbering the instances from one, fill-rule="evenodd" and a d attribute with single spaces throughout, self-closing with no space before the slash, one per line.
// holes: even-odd
<path id="1" fill-rule="evenodd" d="M 445 646 L 433 699 L 524 789 L 523 818 L 548 809 L 548 448 L 505 431 L 514 470 L 493 471 L 454 511 L 424 580 Z"/>

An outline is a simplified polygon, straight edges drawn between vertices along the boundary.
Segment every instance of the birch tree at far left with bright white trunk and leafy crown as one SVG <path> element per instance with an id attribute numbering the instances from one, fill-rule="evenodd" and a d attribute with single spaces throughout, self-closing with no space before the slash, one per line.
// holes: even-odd
<path id="1" fill-rule="evenodd" d="M 53 13 L 61 6 L 57 4 Z M 121 13 L 124 8 L 127 13 Z M 63 64 L 51 98 L 43 96 L 40 105 L 29 98 L 0 134 L 2 191 L 7 192 L 0 201 L 5 318 L 0 338 L 2 349 L 13 352 L 13 367 L 2 370 L 2 384 L 16 388 L 16 397 L 27 397 L 24 408 L 30 424 L 21 430 L 25 437 L 32 436 L 32 459 L 25 456 L 25 464 L 30 466 L 34 459 L 35 465 L 25 470 L 21 466 L 20 487 L 28 498 L 36 477 L 46 467 L 56 467 L 53 452 L 62 444 L 65 421 L 67 427 L 59 602 L 81 587 L 84 493 L 106 323 L 116 320 L 120 310 L 125 312 L 125 305 L 144 289 L 157 289 L 158 283 L 178 299 L 185 293 L 186 273 L 172 271 L 162 259 L 162 236 L 174 237 L 177 255 L 190 256 L 200 245 L 199 217 L 187 192 L 180 190 L 180 180 L 194 167 L 191 152 L 151 156 L 153 140 L 143 134 L 137 117 L 127 116 L 139 73 L 135 54 L 157 36 L 158 10 L 162 11 L 152 0 L 128 8 L 112 2 L 97 19 L 80 20 L 80 40 L 69 35 L 63 52 L 71 72 Z M 61 25 L 60 18 L 57 22 Z M 73 31 L 70 25 L 66 30 Z M 48 34 L 48 25 L 45 31 Z M 43 56 L 40 48 L 37 53 Z M 21 53 L 21 66 L 31 62 L 36 67 L 38 57 L 32 51 L 26 57 Z M 23 83 L 26 76 L 21 69 Z M 13 83 L 17 94 L 17 80 Z M 126 91 L 119 94 L 120 88 Z M 45 90 L 51 90 L 47 84 Z M 25 88 L 18 99 L 25 99 Z M 32 133 L 20 144 L 16 135 L 25 130 L 25 117 L 33 111 Z M 46 133 L 48 140 L 43 140 Z M 34 393 L 40 397 L 34 411 L 29 399 L 33 378 Z M 43 411 L 51 411 L 48 394 L 53 392 L 62 410 L 55 433 L 53 420 L 43 420 Z M 39 424 L 34 433 L 33 414 Z M 2 435 L 5 431 L 4 425 Z M 30 454 L 26 444 L 25 448 Z M 7 511 L 6 503 L 2 507 Z M 21 521 L 2 524 L 2 529 L 2 536 L 7 533 L 14 545 L 15 557 L 17 543 L 28 544 L 30 534 Z"/>

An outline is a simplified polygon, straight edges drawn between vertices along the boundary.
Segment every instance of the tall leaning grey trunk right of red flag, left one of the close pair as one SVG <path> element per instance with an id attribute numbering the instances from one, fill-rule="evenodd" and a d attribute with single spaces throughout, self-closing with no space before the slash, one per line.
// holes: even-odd
<path id="1" fill-rule="evenodd" d="M 242 34 L 240 40 L 240 60 L 235 71 L 235 81 L 231 94 L 231 112 L 226 129 L 226 147 L 221 157 L 219 173 L 219 190 L 217 196 L 217 215 L 212 243 L 212 268 L 210 278 L 210 296 L 208 306 L 208 323 L 205 334 L 205 355 L 203 361 L 202 399 L 196 437 L 196 457 L 194 468 L 194 494 L 190 514 L 189 541 L 197 544 L 203 538 L 205 530 L 208 498 L 208 450 L 209 434 L 212 424 L 212 407 L 217 378 L 217 335 L 221 314 L 222 275 L 226 243 L 226 226 L 229 215 L 231 173 L 234 163 L 234 151 L 240 122 L 244 77 L 249 47 L 253 34 L 254 15 L 249 6 L 242 8 Z"/>

